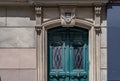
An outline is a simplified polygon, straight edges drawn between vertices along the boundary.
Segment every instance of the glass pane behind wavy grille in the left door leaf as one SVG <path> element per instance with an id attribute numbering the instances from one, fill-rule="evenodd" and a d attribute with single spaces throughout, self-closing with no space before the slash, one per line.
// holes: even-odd
<path id="1" fill-rule="evenodd" d="M 53 69 L 62 68 L 62 46 L 53 46 Z"/>

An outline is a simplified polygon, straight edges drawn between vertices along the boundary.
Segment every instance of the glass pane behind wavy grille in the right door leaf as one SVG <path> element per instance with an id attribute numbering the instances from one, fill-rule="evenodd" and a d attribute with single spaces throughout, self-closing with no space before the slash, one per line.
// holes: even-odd
<path id="1" fill-rule="evenodd" d="M 74 46 L 74 69 L 83 69 L 83 47 Z"/>

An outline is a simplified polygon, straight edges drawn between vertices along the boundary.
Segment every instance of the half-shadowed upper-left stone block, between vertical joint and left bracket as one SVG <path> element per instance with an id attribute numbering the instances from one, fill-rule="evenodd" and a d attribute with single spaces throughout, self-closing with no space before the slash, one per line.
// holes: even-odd
<path id="1" fill-rule="evenodd" d="M 8 7 L 7 26 L 35 26 L 33 7 Z"/>

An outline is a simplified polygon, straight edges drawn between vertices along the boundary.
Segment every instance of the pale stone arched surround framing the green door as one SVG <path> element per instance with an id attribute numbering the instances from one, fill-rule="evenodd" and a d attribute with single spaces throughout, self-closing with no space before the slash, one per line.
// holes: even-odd
<path id="1" fill-rule="evenodd" d="M 47 81 L 47 30 L 57 26 L 78 26 L 89 30 L 89 81 L 100 81 L 100 33 L 97 33 L 96 30 L 99 31 L 101 28 L 101 6 L 94 7 L 95 22 L 75 18 L 75 7 L 60 8 L 65 9 L 61 11 L 60 19 L 44 23 L 42 23 L 41 16 L 36 13 L 36 22 L 40 21 L 36 23 L 36 30 L 41 31 L 37 35 L 37 81 Z M 69 8 L 73 15 L 68 21 L 74 20 L 74 24 L 68 23 L 63 17 Z"/>

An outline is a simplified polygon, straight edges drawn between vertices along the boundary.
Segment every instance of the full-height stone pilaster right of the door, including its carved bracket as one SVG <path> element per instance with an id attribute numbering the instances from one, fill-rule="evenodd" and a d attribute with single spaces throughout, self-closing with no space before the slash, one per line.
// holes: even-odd
<path id="1" fill-rule="evenodd" d="M 101 33 L 101 6 L 95 6 L 95 74 L 96 81 L 100 81 L 100 33 Z"/>

